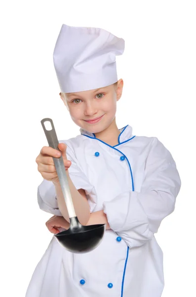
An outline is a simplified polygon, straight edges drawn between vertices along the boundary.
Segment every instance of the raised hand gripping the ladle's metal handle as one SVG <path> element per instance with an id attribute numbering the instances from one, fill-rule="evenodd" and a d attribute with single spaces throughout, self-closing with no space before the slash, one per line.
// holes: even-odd
<path id="1" fill-rule="evenodd" d="M 38 164 L 38 171 L 40 172 L 41 176 L 45 180 L 52 181 L 53 183 L 59 183 L 59 179 L 58 179 L 58 175 L 57 175 L 52 157 L 59 158 L 62 154 L 66 173 L 68 168 L 72 164 L 72 162 L 67 159 L 67 155 L 66 155 L 67 146 L 61 143 L 58 145 L 58 148 L 61 150 L 61 152 L 59 152 L 57 149 L 54 149 L 54 148 L 43 147 L 41 148 L 41 151 L 36 158 L 36 163 Z"/>

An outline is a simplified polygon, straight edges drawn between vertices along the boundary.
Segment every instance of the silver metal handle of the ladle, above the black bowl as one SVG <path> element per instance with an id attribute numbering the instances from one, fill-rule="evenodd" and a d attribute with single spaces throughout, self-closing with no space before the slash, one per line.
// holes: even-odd
<path id="1" fill-rule="evenodd" d="M 49 125 L 49 123 L 47 123 L 48 126 L 50 126 L 50 130 L 46 129 L 45 122 L 50 122 L 51 125 Z M 42 119 L 41 120 L 41 125 L 43 127 L 45 136 L 47 138 L 49 147 L 55 148 L 55 149 L 60 151 L 60 149 L 58 148 L 59 142 L 58 142 L 58 138 L 57 138 L 57 135 L 56 135 L 56 131 L 54 129 L 54 124 L 53 124 L 52 119 L 50 119 L 50 118 Z M 61 185 L 61 189 L 62 189 L 62 192 L 63 192 L 63 197 L 64 197 L 64 200 L 65 200 L 65 204 L 67 206 L 69 217 L 70 218 L 76 217 L 73 200 L 72 200 L 72 196 L 71 196 L 71 193 L 70 193 L 70 187 L 69 187 L 69 184 L 68 184 L 67 174 L 66 174 L 66 171 L 65 171 L 65 165 L 64 165 L 64 162 L 63 162 L 63 157 L 62 157 L 62 155 L 60 156 L 60 158 L 54 158 L 53 157 L 53 160 L 54 160 L 54 165 L 55 165 L 57 175 L 58 175 L 58 178 L 59 178 L 59 182 L 60 182 L 60 185 Z"/>

